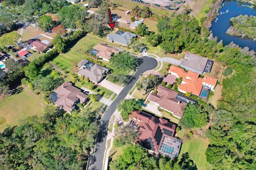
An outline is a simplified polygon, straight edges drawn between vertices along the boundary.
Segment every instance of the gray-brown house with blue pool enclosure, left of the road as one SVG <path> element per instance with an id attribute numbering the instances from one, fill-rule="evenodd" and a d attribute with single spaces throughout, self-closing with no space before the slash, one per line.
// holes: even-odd
<path id="1" fill-rule="evenodd" d="M 80 67 L 77 74 L 79 76 L 88 77 L 94 83 L 99 83 L 104 78 L 104 75 L 109 72 L 109 68 L 101 66 L 99 64 L 87 62 L 85 65 Z"/>

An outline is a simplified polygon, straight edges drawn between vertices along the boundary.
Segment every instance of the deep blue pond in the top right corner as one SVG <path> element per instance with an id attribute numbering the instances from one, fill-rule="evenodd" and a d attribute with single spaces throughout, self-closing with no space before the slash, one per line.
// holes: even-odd
<path id="1" fill-rule="evenodd" d="M 256 8 L 250 8 L 250 5 L 250 3 L 236 0 L 225 0 L 219 11 L 219 15 L 212 21 L 210 30 L 212 31 L 213 36 L 217 36 L 218 41 L 223 40 L 223 45 L 227 45 L 233 41 L 240 47 L 247 46 L 250 50 L 253 49 L 256 51 L 256 41 L 253 41 L 253 39 L 226 34 L 226 30 L 231 26 L 230 18 L 239 15 L 256 16 Z"/>

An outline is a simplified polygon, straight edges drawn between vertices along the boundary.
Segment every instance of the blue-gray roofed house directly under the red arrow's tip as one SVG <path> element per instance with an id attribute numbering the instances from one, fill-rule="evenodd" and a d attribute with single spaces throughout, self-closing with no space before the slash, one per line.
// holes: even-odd
<path id="1" fill-rule="evenodd" d="M 137 38 L 138 35 L 129 33 L 129 32 L 124 32 L 124 31 L 116 31 L 114 34 L 108 34 L 107 39 L 110 42 L 115 42 L 124 46 L 127 46 L 128 43 L 130 43 L 130 39 L 132 38 Z"/>

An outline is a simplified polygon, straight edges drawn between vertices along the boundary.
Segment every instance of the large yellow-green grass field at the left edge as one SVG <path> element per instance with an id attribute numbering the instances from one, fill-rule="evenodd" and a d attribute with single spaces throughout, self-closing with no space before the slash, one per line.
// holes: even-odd
<path id="1" fill-rule="evenodd" d="M 29 116 L 42 116 L 44 102 L 42 94 L 36 95 L 26 87 L 19 94 L 14 94 L 0 102 L 0 131 L 8 125 L 19 125 L 19 121 Z"/>

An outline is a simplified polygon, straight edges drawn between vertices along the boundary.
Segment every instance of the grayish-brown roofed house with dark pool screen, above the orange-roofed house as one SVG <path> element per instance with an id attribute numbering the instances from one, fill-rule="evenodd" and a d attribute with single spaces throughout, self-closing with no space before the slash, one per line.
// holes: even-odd
<path id="1" fill-rule="evenodd" d="M 185 54 L 184 59 L 181 59 L 180 66 L 193 72 L 197 72 L 198 74 L 202 74 L 208 63 L 207 58 L 189 52 Z M 213 64 L 213 61 L 211 64 Z M 209 70 L 206 72 L 209 72 Z"/>

